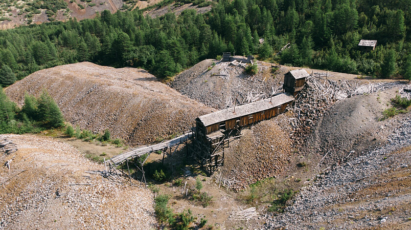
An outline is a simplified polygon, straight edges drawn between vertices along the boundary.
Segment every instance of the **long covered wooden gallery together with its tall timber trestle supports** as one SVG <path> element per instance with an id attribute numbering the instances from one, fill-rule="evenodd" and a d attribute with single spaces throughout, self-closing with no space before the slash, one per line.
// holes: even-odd
<path id="1" fill-rule="evenodd" d="M 283 113 L 294 97 L 282 93 L 246 105 L 219 110 L 196 119 L 192 157 L 209 174 L 223 165 L 224 148 L 241 129 Z"/>

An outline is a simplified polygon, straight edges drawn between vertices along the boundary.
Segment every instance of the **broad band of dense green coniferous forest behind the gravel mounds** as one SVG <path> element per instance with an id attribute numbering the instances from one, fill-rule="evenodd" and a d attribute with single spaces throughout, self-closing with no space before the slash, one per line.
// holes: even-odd
<path id="1" fill-rule="evenodd" d="M 103 11 L 94 19 L 0 31 L 0 84 L 83 61 L 142 67 L 164 78 L 222 52 L 408 79 L 410 12 L 411 0 L 219 0 L 206 14 L 185 10 L 155 19 L 139 10 Z M 378 40 L 376 49 L 360 51 L 360 39 Z"/>

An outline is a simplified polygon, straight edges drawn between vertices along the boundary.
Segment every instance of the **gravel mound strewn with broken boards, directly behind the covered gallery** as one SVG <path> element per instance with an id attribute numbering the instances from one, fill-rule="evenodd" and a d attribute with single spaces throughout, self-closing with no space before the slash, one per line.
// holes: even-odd
<path id="1" fill-rule="evenodd" d="M 235 56 L 238 59 L 244 58 Z M 212 66 L 212 63 L 216 63 Z M 208 70 L 208 67 L 211 69 Z M 284 75 L 275 77 L 270 74 L 271 64 L 258 62 L 258 70 L 263 70 L 251 77 L 239 66 L 230 66 L 214 59 L 206 59 L 177 75 L 170 86 L 187 97 L 216 109 L 224 109 L 228 98 L 243 99 L 251 91 L 269 96 L 273 86 L 282 86 Z M 225 70 L 226 68 L 226 70 Z M 222 72 L 229 74 L 221 76 Z M 251 78 L 250 78 L 251 77 Z M 228 79 L 227 79 L 228 78 Z M 265 80 L 264 80 L 265 79 Z M 264 80 L 264 81 L 262 81 Z M 241 101 L 242 102 L 242 101 Z M 239 105 L 241 102 L 237 102 Z"/>

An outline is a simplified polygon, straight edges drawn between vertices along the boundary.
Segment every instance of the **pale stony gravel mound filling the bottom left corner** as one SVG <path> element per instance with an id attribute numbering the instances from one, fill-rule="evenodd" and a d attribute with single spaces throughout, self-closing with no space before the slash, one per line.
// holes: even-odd
<path id="1" fill-rule="evenodd" d="M 141 229 L 157 227 L 153 194 L 102 182 L 102 170 L 72 146 L 49 137 L 0 135 L 18 151 L 0 153 L 0 229 Z M 80 184 L 80 185 L 78 185 Z"/>

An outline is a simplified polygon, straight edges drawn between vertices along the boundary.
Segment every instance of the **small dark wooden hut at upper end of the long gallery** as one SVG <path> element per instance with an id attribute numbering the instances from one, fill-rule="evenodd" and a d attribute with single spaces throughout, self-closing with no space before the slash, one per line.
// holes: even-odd
<path id="1" fill-rule="evenodd" d="M 310 76 L 305 69 L 291 70 L 284 75 L 284 92 L 296 96 L 304 88 L 306 78 Z"/>

